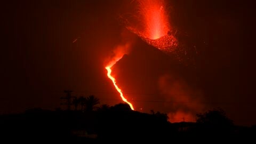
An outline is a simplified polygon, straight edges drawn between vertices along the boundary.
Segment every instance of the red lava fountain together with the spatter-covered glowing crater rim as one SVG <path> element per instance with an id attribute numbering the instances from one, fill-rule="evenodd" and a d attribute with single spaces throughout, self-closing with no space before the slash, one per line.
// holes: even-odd
<path id="1" fill-rule="evenodd" d="M 134 25 L 130 18 L 124 18 L 127 29 L 137 34 L 143 41 L 157 49 L 170 53 L 178 47 L 178 39 L 169 22 L 169 14 L 166 11 L 163 0 L 142 0 L 138 3 L 138 14 L 135 17 Z M 132 17 L 133 19 L 134 17 Z"/>

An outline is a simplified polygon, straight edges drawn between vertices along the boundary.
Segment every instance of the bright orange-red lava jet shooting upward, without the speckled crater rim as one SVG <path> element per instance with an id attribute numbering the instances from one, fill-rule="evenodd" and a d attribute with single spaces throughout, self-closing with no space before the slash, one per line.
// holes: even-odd
<path id="1" fill-rule="evenodd" d="M 143 34 L 150 39 L 158 39 L 171 30 L 164 1 L 144 0 L 139 2 L 139 12 L 145 29 Z"/>

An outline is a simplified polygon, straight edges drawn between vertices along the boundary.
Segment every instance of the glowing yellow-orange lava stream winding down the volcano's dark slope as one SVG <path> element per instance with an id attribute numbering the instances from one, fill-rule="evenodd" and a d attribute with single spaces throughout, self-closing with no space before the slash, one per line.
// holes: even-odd
<path id="1" fill-rule="evenodd" d="M 132 110 L 134 110 L 132 103 L 129 102 L 127 99 L 125 99 L 122 90 L 117 86 L 115 77 L 113 75 L 111 75 L 111 72 L 112 72 L 111 67 L 113 67 L 117 61 L 119 61 L 120 59 L 123 58 L 125 51 L 122 51 L 122 50 L 127 50 L 127 49 L 129 49 L 129 47 L 130 47 L 130 44 L 119 45 L 116 49 L 115 57 L 110 60 L 110 62 L 108 63 L 108 65 L 105 68 L 108 71 L 108 73 L 107 73 L 108 78 L 111 79 L 111 81 L 113 82 L 113 85 L 115 86 L 116 90 L 120 94 L 120 97 L 122 98 L 122 100 L 124 102 L 126 102 L 131 107 Z"/>

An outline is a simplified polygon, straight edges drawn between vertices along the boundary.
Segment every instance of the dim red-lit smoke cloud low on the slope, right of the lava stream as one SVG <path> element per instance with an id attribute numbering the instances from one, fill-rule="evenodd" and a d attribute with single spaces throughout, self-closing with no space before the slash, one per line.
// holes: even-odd
<path id="1" fill-rule="evenodd" d="M 167 101 L 165 107 L 170 110 L 170 122 L 194 122 L 196 113 L 204 109 L 202 92 L 194 90 L 178 76 L 163 75 L 159 77 L 158 86 Z"/>

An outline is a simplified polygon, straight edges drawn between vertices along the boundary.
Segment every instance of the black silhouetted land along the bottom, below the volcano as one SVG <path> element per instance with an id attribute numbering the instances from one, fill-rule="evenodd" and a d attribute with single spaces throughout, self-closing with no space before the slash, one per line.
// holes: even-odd
<path id="1" fill-rule="evenodd" d="M 122 108 L 98 111 L 28 110 L 0 117 L 1 140 L 9 142 L 254 143 L 256 127 L 170 123 L 161 113 L 145 114 Z"/>

